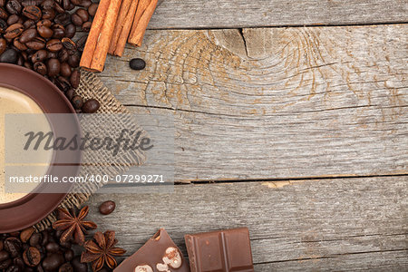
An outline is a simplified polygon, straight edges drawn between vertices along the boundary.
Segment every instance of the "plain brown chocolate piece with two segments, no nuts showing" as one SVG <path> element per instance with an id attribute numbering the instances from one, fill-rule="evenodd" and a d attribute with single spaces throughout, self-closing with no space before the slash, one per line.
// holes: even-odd
<path id="1" fill-rule="evenodd" d="M 254 271 L 248 228 L 186 235 L 191 272 Z"/>

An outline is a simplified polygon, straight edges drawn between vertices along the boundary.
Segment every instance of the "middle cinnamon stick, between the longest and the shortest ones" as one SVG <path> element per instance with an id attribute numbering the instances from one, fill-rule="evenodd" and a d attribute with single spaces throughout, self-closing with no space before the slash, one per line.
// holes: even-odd
<path id="1" fill-rule="evenodd" d="M 126 41 L 131 32 L 131 24 L 138 7 L 139 0 L 123 0 L 118 21 L 112 34 L 112 41 L 108 53 L 121 56 L 123 54 Z"/>

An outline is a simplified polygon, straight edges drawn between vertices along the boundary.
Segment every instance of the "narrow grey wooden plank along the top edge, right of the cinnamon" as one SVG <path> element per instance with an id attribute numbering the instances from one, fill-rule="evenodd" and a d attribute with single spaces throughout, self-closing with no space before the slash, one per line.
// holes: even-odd
<path id="1" fill-rule="evenodd" d="M 150 28 L 237 28 L 408 21 L 406 0 L 161 0 Z"/>

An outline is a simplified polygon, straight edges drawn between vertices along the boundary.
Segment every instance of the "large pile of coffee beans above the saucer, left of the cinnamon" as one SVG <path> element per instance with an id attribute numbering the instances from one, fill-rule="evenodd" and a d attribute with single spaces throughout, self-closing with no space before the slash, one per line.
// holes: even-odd
<path id="1" fill-rule="evenodd" d="M 0 63 L 15 63 L 53 82 L 73 102 L 78 70 L 98 5 L 91 0 L 0 0 Z M 76 97 L 76 99 L 78 99 Z M 73 102 L 77 112 L 96 112 L 100 104 Z"/>

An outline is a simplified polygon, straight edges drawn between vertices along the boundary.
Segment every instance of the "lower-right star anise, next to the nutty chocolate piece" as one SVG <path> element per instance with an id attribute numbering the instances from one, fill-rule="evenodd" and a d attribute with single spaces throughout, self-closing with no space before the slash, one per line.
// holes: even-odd
<path id="1" fill-rule="evenodd" d="M 97 232 L 92 240 L 85 242 L 86 251 L 81 256 L 81 262 L 92 262 L 92 269 L 94 272 L 102 269 L 106 264 L 111 269 L 118 266 L 114 257 L 122 256 L 126 250 L 122 248 L 115 248 L 118 240 L 115 239 L 115 232 L 107 230 L 105 233 Z"/>

